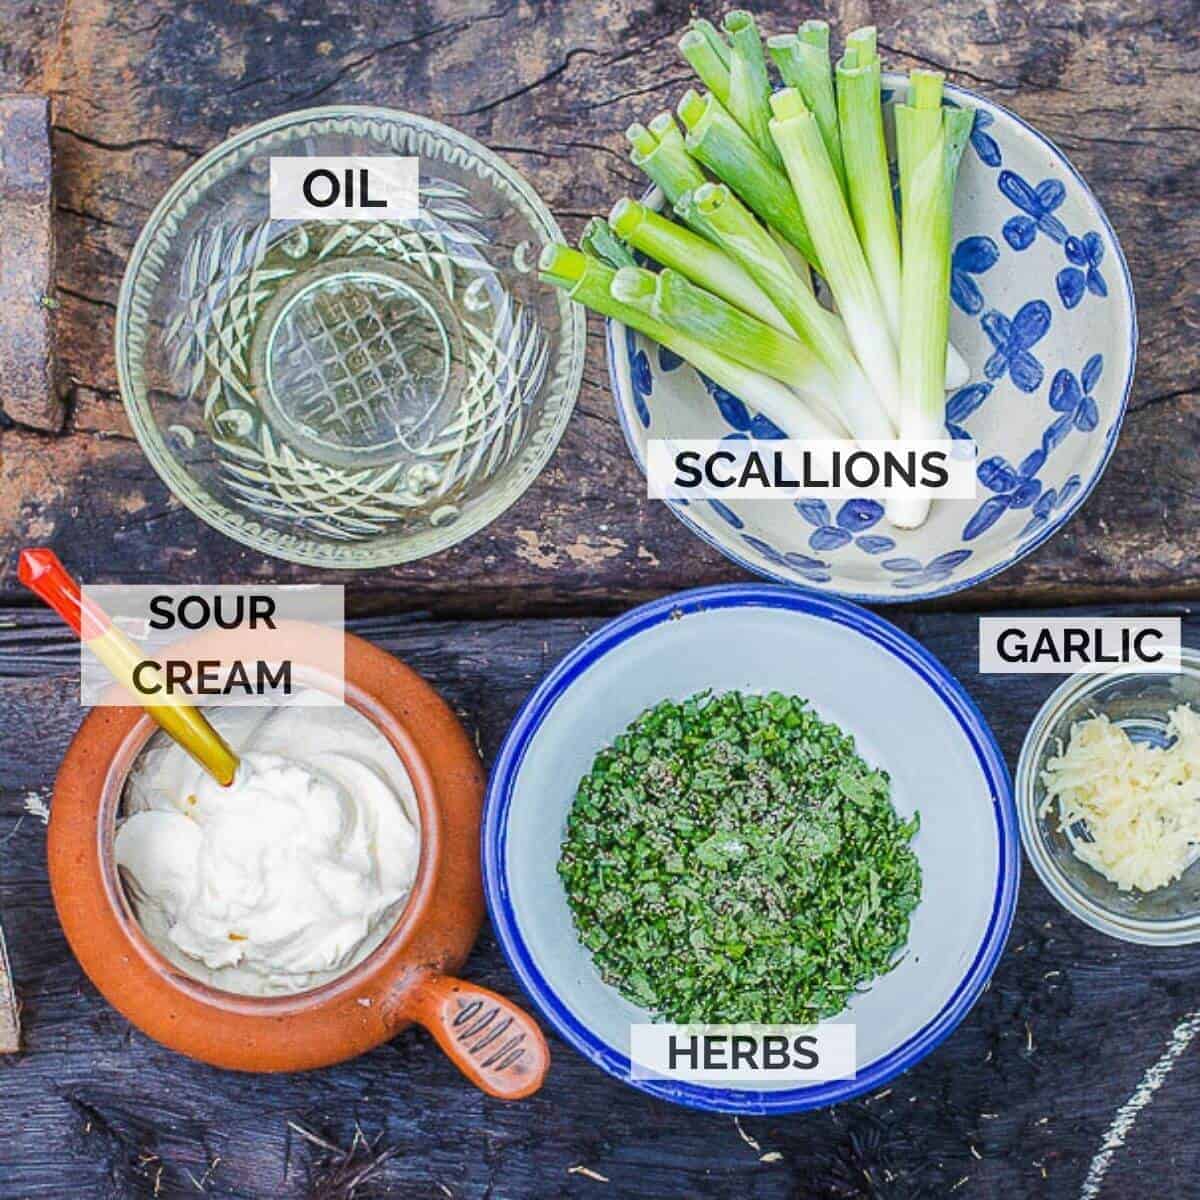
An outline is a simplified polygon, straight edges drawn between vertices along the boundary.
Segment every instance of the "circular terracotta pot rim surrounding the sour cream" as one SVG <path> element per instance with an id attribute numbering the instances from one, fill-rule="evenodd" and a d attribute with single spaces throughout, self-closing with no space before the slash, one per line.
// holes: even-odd
<path id="1" fill-rule="evenodd" d="M 305 672 L 298 667 L 296 678 L 306 686 L 331 691 L 328 678 L 318 672 Z M 236 1012 L 246 1016 L 266 1019 L 304 1012 L 326 1001 L 337 1000 L 347 991 L 361 990 L 364 982 L 373 978 L 385 964 L 403 953 L 403 948 L 420 917 L 425 913 L 437 886 L 437 876 L 442 864 L 440 822 L 438 821 L 437 792 L 433 778 L 425 756 L 407 728 L 392 716 L 366 690 L 350 679 L 344 680 L 346 704 L 354 708 L 371 722 L 391 744 L 404 769 L 408 772 L 416 798 L 419 817 L 420 853 L 413 886 L 403 901 L 403 907 L 396 913 L 392 925 L 379 944 L 360 962 L 343 971 L 334 979 L 306 988 L 304 991 L 286 992 L 276 996 L 248 996 L 241 992 L 227 991 L 214 984 L 205 983 L 187 973 L 172 962 L 149 938 L 133 912 L 133 906 L 126 894 L 116 869 L 114 841 L 116 835 L 116 815 L 121 806 L 124 791 L 130 773 L 137 763 L 150 738 L 158 732 L 157 725 L 139 708 L 120 706 L 121 715 L 136 716 L 133 726 L 121 738 L 115 754 L 104 773 L 103 788 L 96 814 L 97 853 L 101 863 L 103 890 L 121 932 L 130 947 L 136 950 L 145 965 L 154 971 L 168 986 L 186 994 L 190 998 L 220 1008 L 223 1012 Z"/>

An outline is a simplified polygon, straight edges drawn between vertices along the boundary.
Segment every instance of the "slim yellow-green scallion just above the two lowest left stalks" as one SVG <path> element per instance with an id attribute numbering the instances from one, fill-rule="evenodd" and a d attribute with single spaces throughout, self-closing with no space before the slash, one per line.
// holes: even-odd
<path id="1" fill-rule="evenodd" d="M 614 236 L 629 242 L 654 262 L 679 271 L 694 283 L 728 300 L 730 304 L 737 305 L 738 308 L 768 325 L 784 332 L 791 331 L 792 326 L 784 319 L 782 313 L 770 302 L 767 293 L 750 278 L 744 268 L 706 238 L 630 199 L 618 200 L 613 205 L 608 222 Z M 605 254 L 598 257 L 612 262 Z M 619 265 L 634 264 L 630 262 Z"/>

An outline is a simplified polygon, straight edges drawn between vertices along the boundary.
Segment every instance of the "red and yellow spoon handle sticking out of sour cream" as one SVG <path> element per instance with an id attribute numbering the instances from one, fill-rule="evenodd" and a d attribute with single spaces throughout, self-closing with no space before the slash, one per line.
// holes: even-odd
<path id="1" fill-rule="evenodd" d="M 17 577 L 76 631 L 126 691 L 137 695 L 133 668 L 145 661 L 145 654 L 137 642 L 113 624 L 106 612 L 92 601 L 84 600 L 79 584 L 67 574 L 53 550 L 23 550 L 17 562 Z M 142 707 L 222 787 L 233 782 L 238 756 L 198 708 L 146 703 Z"/>

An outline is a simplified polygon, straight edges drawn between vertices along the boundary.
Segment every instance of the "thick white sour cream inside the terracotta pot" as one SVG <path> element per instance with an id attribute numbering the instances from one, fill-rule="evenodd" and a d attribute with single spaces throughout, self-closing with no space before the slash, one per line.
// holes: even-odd
<path id="1" fill-rule="evenodd" d="M 379 944 L 412 890 L 412 780 L 366 718 L 304 692 L 206 715 L 241 760 L 229 787 L 161 736 L 126 785 L 115 854 L 134 914 L 216 988 L 318 986 Z"/>

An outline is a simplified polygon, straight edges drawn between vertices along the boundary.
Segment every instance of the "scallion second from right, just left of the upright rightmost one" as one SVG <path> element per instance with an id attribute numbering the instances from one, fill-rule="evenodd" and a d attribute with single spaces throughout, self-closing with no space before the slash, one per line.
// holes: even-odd
<path id="1" fill-rule="evenodd" d="M 874 26 L 854 30 L 838 64 L 838 122 L 846 166 L 850 211 L 875 287 L 883 302 L 892 340 L 900 347 L 900 236 L 892 176 L 883 136 L 878 48 Z M 971 377 L 962 356 L 947 349 L 947 388 L 961 388 Z"/>

